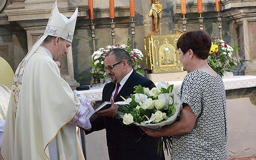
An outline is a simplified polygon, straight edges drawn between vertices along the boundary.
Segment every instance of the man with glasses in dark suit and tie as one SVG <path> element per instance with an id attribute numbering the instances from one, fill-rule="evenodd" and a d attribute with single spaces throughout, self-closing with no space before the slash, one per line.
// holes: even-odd
<path id="1" fill-rule="evenodd" d="M 111 83 L 104 86 L 102 101 L 111 101 L 111 108 L 99 111 L 99 118 L 92 122 L 92 131 L 106 129 L 109 159 L 164 159 L 157 155 L 157 142 L 159 138 L 152 138 L 145 134 L 136 125 L 124 125 L 122 120 L 116 118 L 118 106 L 115 102 L 122 101 L 122 97 L 130 97 L 134 86 L 141 84 L 152 88 L 154 83 L 140 76 L 132 69 L 129 54 L 123 49 L 111 50 L 105 60 L 106 73 L 111 77 Z M 116 90 L 117 84 L 120 84 Z M 116 98 L 115 93 L 117 93 Z"/>

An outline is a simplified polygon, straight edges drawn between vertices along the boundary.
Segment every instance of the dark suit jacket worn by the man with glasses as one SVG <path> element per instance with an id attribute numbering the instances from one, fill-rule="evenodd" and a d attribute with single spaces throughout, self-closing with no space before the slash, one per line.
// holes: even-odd
<path id="1" fill-rule="evenodd" d="M 134 91 L 134 86 L 139 84 L 148 88 L 154 86 L 152 81 L 133 71 L 116 96 L 115 102 L 122 101 L 120 95 L 125 98 L 129 97 Z M 115 83 L 108 83 L 104 86 L 102 92 L 103 102 L 110 100 L 111 93 L 115 90 L 115 85 Z M 159 157 L 157 155 L 159 138 L 148 136 L 136 125 L 125 125 L 122 123 L 122 119 L 119 118 L 99 117 L 92 123 L 92 131 L 96 131 L 95 127 L 97 128 L 96 130 L 106 129 L 110 159 L 164 159 L 164 156 Z"/>

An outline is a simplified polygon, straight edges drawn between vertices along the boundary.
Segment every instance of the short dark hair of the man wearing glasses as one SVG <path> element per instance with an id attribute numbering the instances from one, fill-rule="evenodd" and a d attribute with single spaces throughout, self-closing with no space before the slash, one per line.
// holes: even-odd
<path id="1" fill-rule="evenodd" d="M 115 55 L 116 61 L 126 60 L 128 65 L 132 67 L 131 56 L 124 49 L 120 49 L 120 48 L 112 49 L 111 51 L 108 52 L 106 56 L 111 56 L 111 55 Z"/>

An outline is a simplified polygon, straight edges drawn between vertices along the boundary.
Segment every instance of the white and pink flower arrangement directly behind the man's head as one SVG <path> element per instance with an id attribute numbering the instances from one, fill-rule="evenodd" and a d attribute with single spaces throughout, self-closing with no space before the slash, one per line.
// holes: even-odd
<path id="1" fill-rule="evenodd" d="M 127 44 L 116 44 L 116 45 L 107 45 L 106 48 L 101 47 L 97 51 L 93 52 L 92 58 L 93 60 L 90 63 L 90 67 L 92 67 L 91 73 L 87 74 L 85 76 L 93 76 L 95 79 L 104 79 L 106 80 L 108 78 L 108 75 L 106 74 L 104 70 L 104 58 L 106 57 L 106 54 L 108 54 L 111 49 L 114 48 L 121 48 L 124 49 L 129 53 L 132 60 L 132 68 L 136 70 L 138 74 L 141 74 L 141 66 L 140 61 L 143 60 L 143 53 L 139 49 L 132 49 L 130 47 L 129 40 L 127 41 Z M 81 76 L 79 79 L 83 79 L 84 76 Z"/>

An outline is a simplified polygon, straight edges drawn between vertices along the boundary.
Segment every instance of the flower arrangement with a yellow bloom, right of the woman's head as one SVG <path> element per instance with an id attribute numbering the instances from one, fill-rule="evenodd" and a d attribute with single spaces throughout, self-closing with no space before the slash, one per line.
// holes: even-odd
<path id="1" fill-rule="evenodd" d="M 209 65 L 212 69 L 223 76 L 223 72 L 230 72 L 234 70 L 237 66 L 237 63 L 242 63 L 243 61 L 236 58 L 235 51 L 233 47 L 228 44 L 225 44 L 220 38 L 212 38 L 213 43 L 211 45 L 211 50 L 209 57 L 207 59 Z M 238 48 L 237 48 L 238 49 Z"/>

